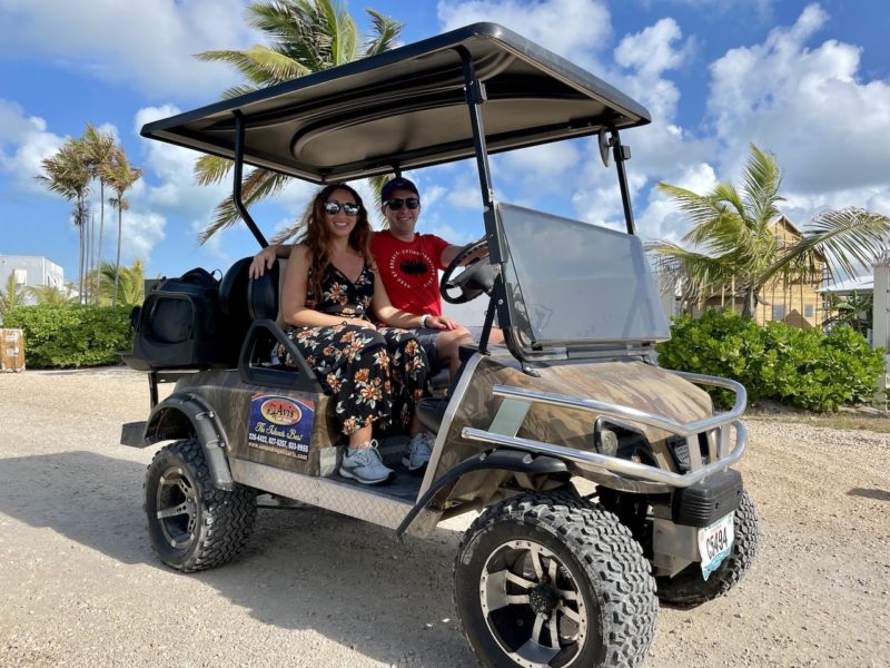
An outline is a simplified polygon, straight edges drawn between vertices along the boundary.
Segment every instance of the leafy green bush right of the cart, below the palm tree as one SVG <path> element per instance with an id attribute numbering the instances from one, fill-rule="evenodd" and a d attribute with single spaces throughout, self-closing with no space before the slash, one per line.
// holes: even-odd
<path id="1" fill-rule="evenodd" d="M 742 383 L 755 403 L 770 399 L 810 411 L 837 411 L 871 400 L 884 373 L 883 348 L 871 350 L 850 327 L 831 334 L 784 323 L 760 326 L 730 311 L 682 316 L 672 338 L 657 345 L 665 369 L 724 376 Z M 719 405 L 731 394 L 712 391 Z"/>

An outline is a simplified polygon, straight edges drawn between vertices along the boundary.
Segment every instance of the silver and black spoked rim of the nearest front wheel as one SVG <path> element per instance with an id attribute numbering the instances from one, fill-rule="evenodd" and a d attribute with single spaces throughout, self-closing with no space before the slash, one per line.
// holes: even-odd
<path id="1" fill-rule="evenodd" d="M 485 623 L 520 666 L 568 666 L 587 637 L 584 597 L 546 547 L 512 540 L 492 552 L 479 576 Z"/>

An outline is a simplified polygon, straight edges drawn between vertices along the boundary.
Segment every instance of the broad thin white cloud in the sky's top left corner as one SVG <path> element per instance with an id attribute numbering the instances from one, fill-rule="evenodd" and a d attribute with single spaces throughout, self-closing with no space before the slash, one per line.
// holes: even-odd
<path id="1" fill-rule="evenodd" d="M 256 40 L 241 0 L 0 0 L 0 43 L 150 96 L 214 96 L 233 70 L 192 56 Z"/>

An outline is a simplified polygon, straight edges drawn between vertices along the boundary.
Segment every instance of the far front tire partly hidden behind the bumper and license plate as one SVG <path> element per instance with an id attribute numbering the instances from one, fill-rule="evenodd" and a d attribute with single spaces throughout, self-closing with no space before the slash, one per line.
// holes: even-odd
<path id="1" fill-rule="evenodd" d="M 680 609 L 701 606 L 729 593 L 748 572 L 756 557 L 760 541 L 758 513 L 748 492 L 742 492 L 741 503 L 735 511 L 733 531 L 735 536 L 732 550 L 706 580 L 702 578 L 701 566 L 698 562 L 691 563 L 673 578 L 655 578 L 661 602 Z"/>

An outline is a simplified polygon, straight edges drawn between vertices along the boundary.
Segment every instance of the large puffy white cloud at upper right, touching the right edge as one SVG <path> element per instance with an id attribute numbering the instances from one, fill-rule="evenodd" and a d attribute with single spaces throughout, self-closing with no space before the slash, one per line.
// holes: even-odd
<path id="1" fill-rule="evenodd" d="M 775 28 L 761 45 L 733 49 L 711 66 L 709 109 L 721 141 L 734 149 L 724 170 L 738 173 L 748 141 L 775 154 L 784 189 L 803 195 L 886 187 L 890 174 L 890 84 L 863 81 L 860 49 L 828 39 L 830 27 L 807 7 L 790 28 Z"/>

